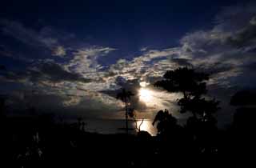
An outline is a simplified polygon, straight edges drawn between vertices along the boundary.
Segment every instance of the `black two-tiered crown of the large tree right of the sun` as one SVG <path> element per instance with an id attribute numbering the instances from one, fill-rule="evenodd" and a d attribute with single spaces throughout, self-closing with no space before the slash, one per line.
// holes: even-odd
<path id="1" fill-rule="evenodd" d="M 168 70 L 163 79 L 155 82 L 154 86 L 162 87 L 171 93 L 181 92 L 183 98 L 178 99 L 178 106 L 181 107 L 180 112 L 183 114 L 190 111 L 194 118 L 199 115 L 206 120 L 218 110 L 219 104 L 215 99 L 202 98 L 202 95 L 207 92 L 206 80 L 208 79 L 208 74 L 195 72 L 185 67 Z"/>

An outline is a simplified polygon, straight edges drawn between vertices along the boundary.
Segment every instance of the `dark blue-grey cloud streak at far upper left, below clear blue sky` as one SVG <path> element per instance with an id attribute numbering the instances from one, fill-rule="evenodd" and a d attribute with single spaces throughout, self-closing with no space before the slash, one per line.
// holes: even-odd
<path id="1" fill-rule="evenodd" d="M 78 43 L 82 43 L 78 42 L 74 34 L 58 30 L 53 26 L 41 26 L 35 29 L 24 22 L 9 19 L 0 19 L 0 38 L 5 42 L 5 50 L 1 49 L 0 54 L 23 61 L 27 61 L 28 58 L 37 61 L 40 58 L 53 56 L 63 58 L 74 50 L 73 47 L 78 47 Z"/>

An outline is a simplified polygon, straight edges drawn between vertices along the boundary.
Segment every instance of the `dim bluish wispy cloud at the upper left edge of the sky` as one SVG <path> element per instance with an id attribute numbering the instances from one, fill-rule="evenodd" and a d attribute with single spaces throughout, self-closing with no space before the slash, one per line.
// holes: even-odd
<path id="1" fill-rule="evenodd" d="M 63 32 L 62 30 L 57 30 L 52 26 L 42 26 L 39 30 L 32 29 L 25 26 L 22 22 L 12 21 L 8 19 L 0 20 L 0 32 L 1 36 L 6 38 L 13 38 L 18 42 L 22 43 L 21 48 L 16 48 L 19 50 L 18 53 L 11 54 L 13 58 L 21 55 L 20 53 L 26 52 L 23 58 L 29 57 L 27 51 L 38 52 L 43 58 L 52 56 L 63 57 L 66 55 L 67 50 L 72 49 L 72 45 L 76 43 L 77 40 L 74 38 L 74 34 Z M 65 45 L 70 47 L 65 47 Z M 5 48 L 10 46 L 6 42 Z M 3 52 L 3 51 L 2 51 Z M 5 53 L 12 53 L 13 50 L 6 50 Z M 49 55 L 45 55 L 49 54 Z M 40 58 L 39 56 L 34 56 L 34 58 Z"/>

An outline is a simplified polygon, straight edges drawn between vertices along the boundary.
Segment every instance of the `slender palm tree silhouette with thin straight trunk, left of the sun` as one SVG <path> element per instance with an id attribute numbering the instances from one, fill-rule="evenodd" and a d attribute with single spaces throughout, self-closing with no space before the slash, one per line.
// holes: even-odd
<path id="1" fill-rule="evenodd" d="M 128 114 L 129 109 L 128 106 L 130 104 L 130 97 L 134 96 L 134 94 L 130 91 L 126 91 L 126 89 L 122 89 L 120 93 L 118 93 L 117 98 L 125 103 L 126 106 L 126 134 L 128 134 Z"/>

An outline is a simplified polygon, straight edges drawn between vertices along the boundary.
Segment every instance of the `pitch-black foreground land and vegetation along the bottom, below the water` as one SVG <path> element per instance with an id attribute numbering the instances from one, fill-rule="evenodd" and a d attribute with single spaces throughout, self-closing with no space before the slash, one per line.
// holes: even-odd
<path id="1" fill-rule="evenodd" d="M 95 134 L 47 117 L 4 118 L 1 122 L 1 167 L 166 167 L 186 158 L 236 157 L 253 154 L 255 132 L 230 128 L 195 138 L 176 127 L 168 135 Z M 224 158 L 225 158 L 224 157 Z M 192 164 L 192 163 L 191 163 Z"/>

